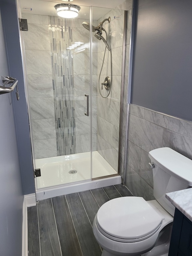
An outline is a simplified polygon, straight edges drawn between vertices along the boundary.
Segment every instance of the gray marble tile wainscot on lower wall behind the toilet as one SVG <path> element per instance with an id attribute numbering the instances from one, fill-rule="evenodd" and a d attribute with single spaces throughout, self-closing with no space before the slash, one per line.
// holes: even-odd
<path id="1" fill-rule="evenodd" d="M 130 104 L 125 185 L 135 196 L 154 199 L 148 153 L 170 147 L 192 159 L 192 122 Z"/>

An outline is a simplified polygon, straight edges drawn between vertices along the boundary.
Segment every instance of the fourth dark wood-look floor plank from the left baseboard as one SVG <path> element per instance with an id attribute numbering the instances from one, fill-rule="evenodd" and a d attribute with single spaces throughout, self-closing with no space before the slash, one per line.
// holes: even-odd
<path id="1" fill-rule="evenodd" d="M 66 195 L 67 203 L 80 242 L 83 256 L 101 256 L 101 249 L 93 235 L 91 224 L 80 200 L 79 194 Z"/>

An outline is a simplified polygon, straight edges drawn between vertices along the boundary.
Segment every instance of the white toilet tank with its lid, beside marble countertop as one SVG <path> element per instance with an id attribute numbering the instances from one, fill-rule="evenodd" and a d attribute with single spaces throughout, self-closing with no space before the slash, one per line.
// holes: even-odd
<path id="1" fill-rule="evenodd" d="M 192 160 L 168 147 L 149 152 L 153 168 L 153 187 L 155 199 L 172 216 L 175 207 L 165 194 L 192 187 Z"/>

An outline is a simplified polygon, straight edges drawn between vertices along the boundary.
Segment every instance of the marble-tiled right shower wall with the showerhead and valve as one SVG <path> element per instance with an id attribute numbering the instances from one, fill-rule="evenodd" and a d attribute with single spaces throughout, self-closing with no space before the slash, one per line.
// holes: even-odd
<path id="1" fill-rule="evenodd" d="M 98 92 L 97 114 L 98 114 L 98 152 L 118 171 L 118 147 L 119 147 L 119 117 L 120 117 L 120 98 L 121 98 L 121 74 L 122 74 L 122 45 L 123 45 L 123 22 L 124 11 L 127 10 L 126 26 L 126 49 L 125 49 L 125 73 L 124 73 L 124 92 L 123 92 L 123 116 L 122 116 L 122 137 L 120 148 L 120 174 L 124 177 L 125 162 L 125 126 L 127 119 L 127 91 L 128 91 L 128 65 L 129 65 L 129 45 L 131 31 L 131 10 L 132 0 L 125 1 L 122 5 L 116 7 L 102 17 L 101 22 L 106 17 L 111 17 L 110 23 L 104 23 L 104 28 L 108 33 L 108 42 L 112 48 L 113 62 L 113 87 L 108 98 L 102 98 Z M 114 19 L 114 16 L 120 17 L 120 20 Z M 94 24 L 93 24 L 94 25 Z M 102 41 L 98 42 L 98 73 L 100 72 L 103 61 L 105 45 Z M 106 76 L 110 76 L 110 55 L 106 52 L 104 67 L 101 73 L 101 82 Z M 103 95 L 106 95 L 104 90 Z"/>

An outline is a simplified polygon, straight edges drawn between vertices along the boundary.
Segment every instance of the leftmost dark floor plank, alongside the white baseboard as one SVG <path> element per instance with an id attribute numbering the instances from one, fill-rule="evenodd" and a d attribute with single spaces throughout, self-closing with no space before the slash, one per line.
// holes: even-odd
<path id="1" fill-rule="evenodd" d="M 40 256 L 37 206 L 27 208 L 28 256 Z"/>

